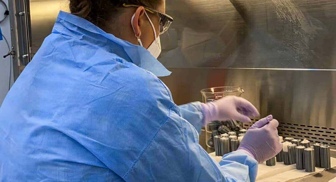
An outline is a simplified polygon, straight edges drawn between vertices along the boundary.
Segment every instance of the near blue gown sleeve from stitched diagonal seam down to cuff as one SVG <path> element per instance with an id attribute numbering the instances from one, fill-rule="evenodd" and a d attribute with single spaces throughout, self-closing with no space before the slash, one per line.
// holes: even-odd
<path id="1" fill-rule="evenodd" d="M 178 114 L 177 107 L 170 108 L 169 117 L 124 180 L 255 181 L 256 160 L 236 151 L 219 163 L 213 161 L 199 145 L 196 129 Z"/>

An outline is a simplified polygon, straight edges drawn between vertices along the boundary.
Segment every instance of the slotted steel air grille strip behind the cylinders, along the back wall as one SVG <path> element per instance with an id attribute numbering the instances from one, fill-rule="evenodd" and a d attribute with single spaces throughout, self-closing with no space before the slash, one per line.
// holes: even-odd
<path id="1" fill-rule="evenodd" d="M 258 121 L 252 119 L 252 123 Z M 252 124 L 243 124 L 248 129 Z M 293 137 L 295 139 L 307 139 L 312 143 L 321 143 L 329 145 L 332 149 L 336 149 L 336 130 L 335 128 L 327 128 L 321 126 L 311 126 L 296 123 L 280 122 L 278 126 L 279 136 Z"/>

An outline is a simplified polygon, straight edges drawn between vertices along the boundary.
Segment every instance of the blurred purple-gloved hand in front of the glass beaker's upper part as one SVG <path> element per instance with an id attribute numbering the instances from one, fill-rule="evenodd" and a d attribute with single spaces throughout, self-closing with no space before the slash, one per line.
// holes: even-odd
<path id="1" fill-rule="evenodd" d="M 226 96 L 202 104 L 202 107 L 203 125 L 215 120 L 251 122 L 250 117 L 259 116 L 258 110 L 249 101 L 236 96 Z"/>

